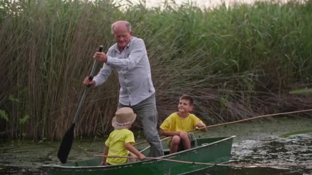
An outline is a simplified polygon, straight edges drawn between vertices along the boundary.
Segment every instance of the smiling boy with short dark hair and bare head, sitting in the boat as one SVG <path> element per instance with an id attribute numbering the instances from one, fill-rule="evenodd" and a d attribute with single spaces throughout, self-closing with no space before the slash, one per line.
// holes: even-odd
<path id="1" fill-rule="evenodd" d="M 168 141 L 170 154 L 194 147 L 196 139 L 193 134 L 187 133 L 187 131 L 193 130 L 196 127 L 206 126 L 202 120 L 189 113 L 193 110 L 193 104 L 194 100 L 191 96 L 181 96 L 178 112 L 167 117 L 160 126 L 163 136 L 171 136 Z"/>

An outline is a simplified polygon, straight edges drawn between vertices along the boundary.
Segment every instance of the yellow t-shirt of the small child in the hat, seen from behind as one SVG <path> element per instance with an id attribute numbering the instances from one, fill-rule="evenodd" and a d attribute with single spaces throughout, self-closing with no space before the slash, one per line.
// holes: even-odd
<path id="1" fill-rule="evenodd" d="M 128 149 L 125 144 L 135 143 L 134 135 L 129 129 L 116 129 L 109 134 L 105 145 L 109 147 L 108 156 L 128 156 Z M 107 158 L 106 162 L 112 165 L 123 164 L 127 162 L 126 158 Z"/>

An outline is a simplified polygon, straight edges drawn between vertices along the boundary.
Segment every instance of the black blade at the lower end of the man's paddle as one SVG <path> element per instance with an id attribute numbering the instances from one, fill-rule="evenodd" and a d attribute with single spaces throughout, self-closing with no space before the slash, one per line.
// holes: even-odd
<path id="1" fill-rule="evenodd" d="M 66 163 L 69 151 L 74 139 L 74 127 L 75 123 L 72 123 L 70 128 L 67 130 L 65 136 L 63 137 L 59 151 L 57 151 L 57 157 L 62 163 Z"/>

